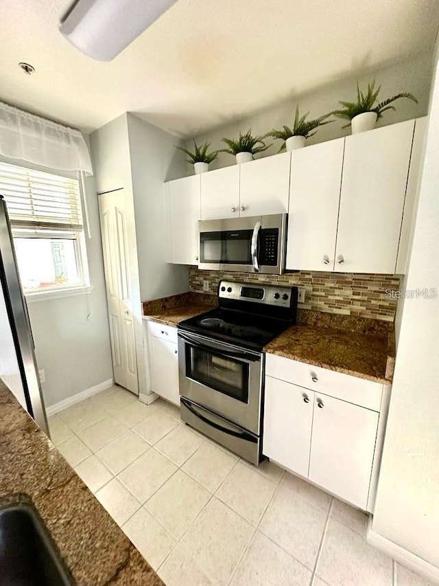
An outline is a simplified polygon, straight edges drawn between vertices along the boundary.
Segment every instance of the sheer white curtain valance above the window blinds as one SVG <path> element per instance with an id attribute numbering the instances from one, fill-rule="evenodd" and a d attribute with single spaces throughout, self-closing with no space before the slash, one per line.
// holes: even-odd
<path id="1" fill-rule="evenodd" d="M 0 155 L 93 175 L 82 133 L 0 102 Z"/>

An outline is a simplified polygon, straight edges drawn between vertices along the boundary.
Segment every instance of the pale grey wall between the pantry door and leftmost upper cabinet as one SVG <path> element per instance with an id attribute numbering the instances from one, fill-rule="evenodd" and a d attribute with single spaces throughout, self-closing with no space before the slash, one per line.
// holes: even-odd
<path id="1" fill-rule="evenodd" d="M 163 182 L 185 174 L 175 148 L 180 140 L 128 114 L 134 217 L 141 299 L 189 290 L 188 269 L 166 262 Z"/>

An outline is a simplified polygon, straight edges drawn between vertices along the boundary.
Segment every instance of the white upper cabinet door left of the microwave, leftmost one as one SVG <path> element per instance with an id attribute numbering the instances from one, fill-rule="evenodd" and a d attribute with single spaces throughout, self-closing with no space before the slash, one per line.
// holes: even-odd
<path id="1" fill-rule="evenodd" d="M 176 264 L 198 264 L 200 175 L 169 181 L 171 258 Z"/>

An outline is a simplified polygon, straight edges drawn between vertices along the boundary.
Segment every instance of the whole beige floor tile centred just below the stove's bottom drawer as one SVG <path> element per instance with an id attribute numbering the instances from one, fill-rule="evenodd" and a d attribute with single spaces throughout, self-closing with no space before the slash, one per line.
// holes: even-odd
<path id="1" fill-rule="evenodd" d="M 182 470 L 200 482 L 204 488 L 214 493 L 224 478 L 238 461 L 235 456 L 204 442 L 182 466 Z"/>

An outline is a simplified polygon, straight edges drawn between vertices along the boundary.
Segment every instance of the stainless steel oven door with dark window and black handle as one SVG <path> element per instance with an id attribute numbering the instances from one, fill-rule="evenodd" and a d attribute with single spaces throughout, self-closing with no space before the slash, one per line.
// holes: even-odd
<path id="1" fill-rule="evenodd" d="M 262 354 L 178 331 L 180 396 L 259 435 Z"/>

